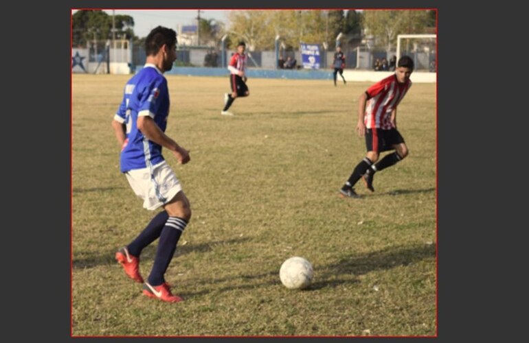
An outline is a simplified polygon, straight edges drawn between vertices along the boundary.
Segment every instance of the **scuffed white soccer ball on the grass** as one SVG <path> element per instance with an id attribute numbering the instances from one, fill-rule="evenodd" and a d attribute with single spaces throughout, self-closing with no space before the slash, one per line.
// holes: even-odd
<path id="1" fill-rule="evenodd" d="M 313 265 L 303 257 L 286 259 L 279 270 L 281 283 L 289 289 L 303 289 L 311 284 L 314 276 Z"/>

